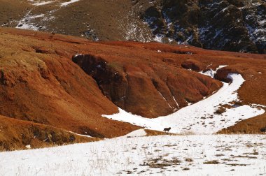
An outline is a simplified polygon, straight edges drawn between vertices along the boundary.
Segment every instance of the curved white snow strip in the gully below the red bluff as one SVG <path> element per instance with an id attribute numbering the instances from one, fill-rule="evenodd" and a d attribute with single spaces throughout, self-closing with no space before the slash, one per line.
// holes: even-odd
<path id="1" fill-rule="evenodd" d="M 165 127 L 171 126 L 172 133 L 210 134 L 232 126 L 242 119 L 262 115 L 265 110 L 254 106 L 251 107 L 251 105 L 241 105 L 226 109 L 220 115 L 215 113 L 221 105 L 238 101 L 237 90 L 245 80 L 237 73 L 228 74 L 228 78 L 232 80 L 232 83 L 223 82 L 223 87 L 216 94 L 193 105 L 181 108 L 172 115 L 148 119 L 139 115 L 132 115 L 130 112 L 125 112 L 125 110 L 118 108 L 119 112 L 117 114 L 102 116 L 142 126 L 145 129 L 162 131 Z"/>

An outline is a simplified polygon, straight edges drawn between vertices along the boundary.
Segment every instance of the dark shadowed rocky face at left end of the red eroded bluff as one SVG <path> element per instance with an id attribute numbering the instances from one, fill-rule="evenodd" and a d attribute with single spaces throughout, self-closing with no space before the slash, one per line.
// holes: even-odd
<path id="1" fill-rule="evenodd" d="M 120 108 L 125 109 L 128 82 L 125 73 L 119 70 L 119 65 L 109 64 L 101 57 L 90 54 L 76 55 L 72 61 L 97 81 L 105 96 Z"/>

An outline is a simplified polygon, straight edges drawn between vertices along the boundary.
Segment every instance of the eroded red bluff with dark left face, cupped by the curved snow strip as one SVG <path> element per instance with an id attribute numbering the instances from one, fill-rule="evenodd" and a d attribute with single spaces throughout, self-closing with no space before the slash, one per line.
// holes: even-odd
<path id="1" fill-rule="evenodd" d="M 172 64 L 136 65 L 93 54 L 77 54 L 72 61 L 92 76 L 104 96 L 119 108 L 148 118 L 172 114 L 222 87 L 218 80 Z"/>

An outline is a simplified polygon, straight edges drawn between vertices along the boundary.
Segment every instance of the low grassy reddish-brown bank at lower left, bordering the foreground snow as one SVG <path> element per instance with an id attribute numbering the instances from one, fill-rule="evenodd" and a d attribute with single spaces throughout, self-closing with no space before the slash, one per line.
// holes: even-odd
<path id="1" fill-rule="evenodd" d="M 26 122 L 0 115 L 0 151 L 51 147 L 77 142 L 97 141 L 52 126 Z"/>

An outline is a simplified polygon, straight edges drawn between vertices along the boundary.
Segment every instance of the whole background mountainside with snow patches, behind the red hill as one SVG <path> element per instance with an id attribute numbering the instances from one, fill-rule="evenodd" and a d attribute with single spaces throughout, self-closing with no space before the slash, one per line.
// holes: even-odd
<path id="1" fill-rule="evenodd" d="M 262 0 L 1 0 L 0 25 L 93 41 L 160 41 L 265 53 Z"/>

